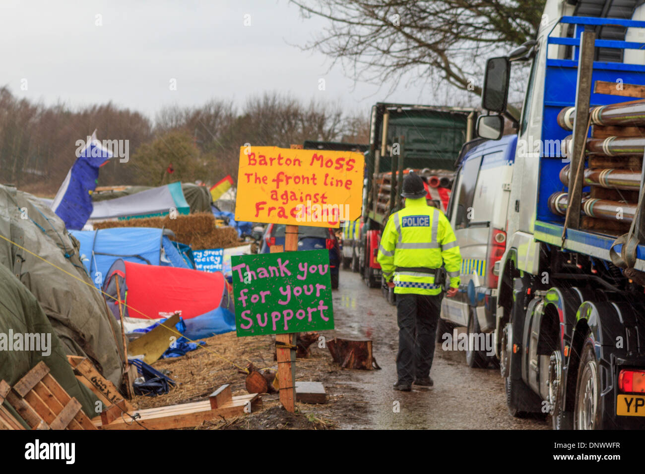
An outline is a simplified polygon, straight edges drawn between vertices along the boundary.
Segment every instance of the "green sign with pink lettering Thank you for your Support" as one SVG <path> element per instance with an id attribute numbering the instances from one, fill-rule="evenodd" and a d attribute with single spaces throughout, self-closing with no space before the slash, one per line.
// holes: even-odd
<path id="1" fill-rule="evenodd" d="M 333 329 L 329 250 L 231 257 L 237 337 Z"/>

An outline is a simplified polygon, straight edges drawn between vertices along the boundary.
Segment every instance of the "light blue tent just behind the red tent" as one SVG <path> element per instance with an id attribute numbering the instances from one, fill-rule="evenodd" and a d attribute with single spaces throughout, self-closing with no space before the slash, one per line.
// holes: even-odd
<path id="1" fill-rule="evenodd" d="M 168 235 L 164 235 L 168 232 L 167 229 L 147 227 L 70 231 L 81 243 L 83 264 L 97 288 L 101 288 L 110 266 L 119 258 L 148 265 L 189 268 Z"/>

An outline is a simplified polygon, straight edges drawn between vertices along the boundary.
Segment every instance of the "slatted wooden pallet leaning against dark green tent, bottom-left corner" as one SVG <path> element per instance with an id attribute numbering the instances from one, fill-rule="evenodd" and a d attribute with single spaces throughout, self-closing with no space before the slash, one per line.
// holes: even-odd
<path id="1" fill-rule="evenodd" d="M 31 428 L 96 429 L 81 410 L 81 402 L 70 397 L 42 360 L 8 391 L 6 400 Z"/>

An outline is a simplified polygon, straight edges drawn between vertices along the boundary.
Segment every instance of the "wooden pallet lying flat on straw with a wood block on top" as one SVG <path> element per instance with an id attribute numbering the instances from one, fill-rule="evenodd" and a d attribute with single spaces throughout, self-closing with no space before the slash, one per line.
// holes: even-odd
<path id="1" fill-rule="evenodd" d="M 114 408 L 101 413 L 101 417 L 95 417 L 92 422 L 102 430 L 172 430 L 198 426 L 204 421 L 221 417 L 242 415 L 247 406 L 250 406 L 251 411 L 261 408 L 262 398 L 259 393 L 233 397 L 230 384 L 226 384 L 214 391 L 208 400 L 201 402 L 134 411 L 132 415 L 136 420 Z"/>

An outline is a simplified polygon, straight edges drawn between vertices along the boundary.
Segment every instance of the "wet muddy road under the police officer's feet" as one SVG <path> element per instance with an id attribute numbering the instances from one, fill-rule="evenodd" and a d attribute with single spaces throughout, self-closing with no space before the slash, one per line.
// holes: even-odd
<path id="1" fill-rule="evenodd" d="M 341 272 L 340 282 L 333 298 L 333 333 L 371 338 L 382 369 L 342 371 L 331 392 L 351 393 L 362 406 L 356 412 L 359 415 L 341 417 L 339 428 L 550 429 L 544 420 L 508 415 L 499 370 L 471 369 L 463 352 L 444 351 L 439 344 L 430 372 L 435 386 L 429 390 L 413 388 L 407 393 L 393 390 L 398 344 L 396 308 L 385 301 L 381 290 L 367 288 L 358 273 Z"/>

